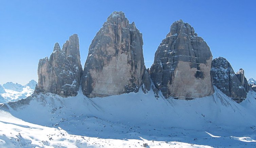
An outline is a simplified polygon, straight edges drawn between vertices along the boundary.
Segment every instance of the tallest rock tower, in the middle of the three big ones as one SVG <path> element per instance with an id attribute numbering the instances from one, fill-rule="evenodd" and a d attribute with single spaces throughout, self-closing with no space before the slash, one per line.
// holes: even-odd
<path id="1" fill-rule="evenodd" d="M 142 34 L 134 22 L 129 24 L 123 12 L 113 12 L 89 47 L 81 81 L 84 95 L 138 92 L 142 80 L 149 85 L 142 45 Z"/>

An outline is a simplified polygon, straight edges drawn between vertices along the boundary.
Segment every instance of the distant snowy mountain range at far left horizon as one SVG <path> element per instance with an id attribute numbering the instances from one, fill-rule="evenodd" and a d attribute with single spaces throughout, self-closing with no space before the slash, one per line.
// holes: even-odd
<path id="1" fill-rule="evenodd" d="M 25 86 L 14 84 L 13 82 L 7 82 L 3 87 L 0 85 L 0 103 L 16 101 L 31 96 L 36 84 L 35 80 L 31 80 Z"/>

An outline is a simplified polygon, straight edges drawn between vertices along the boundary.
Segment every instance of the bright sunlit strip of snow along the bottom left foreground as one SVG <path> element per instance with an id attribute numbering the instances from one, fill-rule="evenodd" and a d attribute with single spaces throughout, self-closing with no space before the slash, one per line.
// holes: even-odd
<path id="1" fill-rule="evenodd" d="M 58 128 L 24 122 L 0 110 L 0 147 L 209 147 L 182 142 L 140 139 L 103 139 L 72 135 Z"/>

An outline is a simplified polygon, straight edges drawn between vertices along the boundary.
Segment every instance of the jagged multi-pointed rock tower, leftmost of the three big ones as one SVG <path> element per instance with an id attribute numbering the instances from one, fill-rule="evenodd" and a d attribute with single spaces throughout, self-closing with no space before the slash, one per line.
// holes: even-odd
<path id="1" fill-rule="evenodd" d="M 38 86 L 35 92 L 50 92 L 63 97 L 75 96 L 79 90 L 83 69 L 80 63 L 79 41 L 76 34 L 60 49 L 55 43 L 53 53 L 38 63 Z"/>

